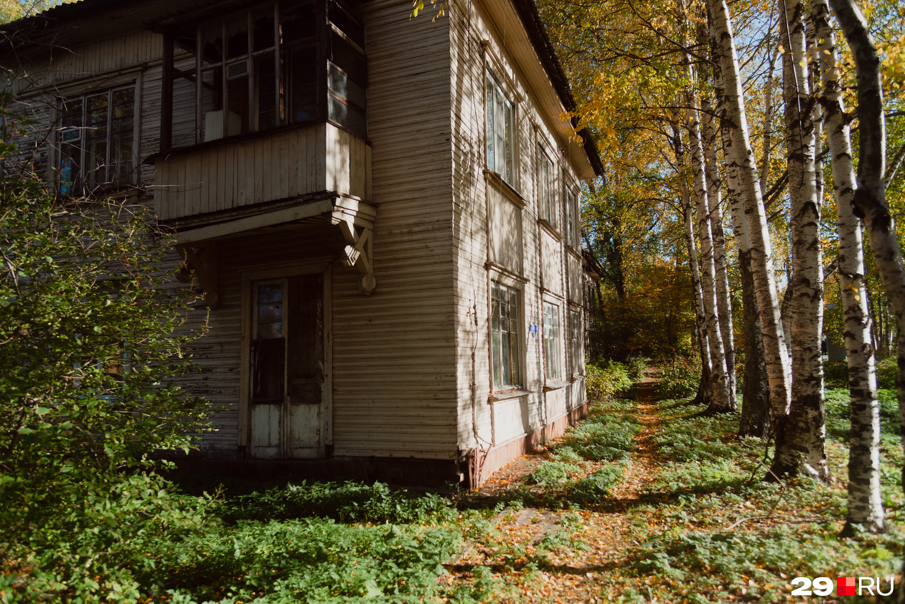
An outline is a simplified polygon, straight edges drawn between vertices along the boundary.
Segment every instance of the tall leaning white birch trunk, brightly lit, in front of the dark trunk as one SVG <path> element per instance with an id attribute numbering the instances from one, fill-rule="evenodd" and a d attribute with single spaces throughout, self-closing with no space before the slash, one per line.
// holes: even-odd
<path id="1" fill-rule="evenodd" d="M 757 294 L 757 310 L 767 357 L 770 383 L 770 404 L 774 417 L 786 415 L 791 389 L 791 376 L 786 355 L 786 339 L 779 316 L 776 279 L 773 274 L 773 248 L 767 230 L 767 213 L 761 198 L 757 164 L 748 136 L 748 117 L 745 114 L 738 54 L 732 39 L 732 24 L 726 0 L 708 0 L 716 35 L 721 72 L 722 95 L 725 101 L 725 123 L 729 126 L 729 142 L 733 165 L 738 170 L 738 183 L 745 204 L 748 238 L 751 244 L 751 273 Z"/>

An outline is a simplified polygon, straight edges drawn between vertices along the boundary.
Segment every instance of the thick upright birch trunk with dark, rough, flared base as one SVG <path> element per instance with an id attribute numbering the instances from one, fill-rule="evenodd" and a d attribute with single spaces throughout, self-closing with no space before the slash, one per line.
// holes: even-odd
<path id="1" fill-rule="evenodd" d="M 814 97 L 805 55 L 805 5 L 781 0 L 779 39 L 783 54 L 783 101 L 786 106 L 786 166 L 792 233 L 792 405 L 776 425 L 776 453 L 768 475 L 812 475 L 826 482 L 823 351 L 824 315 L 820 211 L 814 175 Z M 784 13 L 785 11 L 785 13 Z M 782 17 L 785 15 L 785 20 Z"/>

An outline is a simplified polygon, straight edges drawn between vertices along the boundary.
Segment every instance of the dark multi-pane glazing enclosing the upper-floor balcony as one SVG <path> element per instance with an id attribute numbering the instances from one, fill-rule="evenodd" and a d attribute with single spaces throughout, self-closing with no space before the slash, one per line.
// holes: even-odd
<path id="1" fill-rule="evenodd" d="M 258 5 L 184 28 L 168 57 L 172 120 L 161 149 L 315 120 L 365 137 L 364 37 L 336 0 Z"/>

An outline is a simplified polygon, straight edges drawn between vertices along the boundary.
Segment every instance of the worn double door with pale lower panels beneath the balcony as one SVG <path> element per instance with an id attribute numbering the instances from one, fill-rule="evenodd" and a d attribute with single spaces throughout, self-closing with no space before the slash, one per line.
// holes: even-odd
<path id="1" fill-rule="evenodd" d="M 250 352 L 252 457 L 321 455 L 322 274 L 252 283 Z"/>

